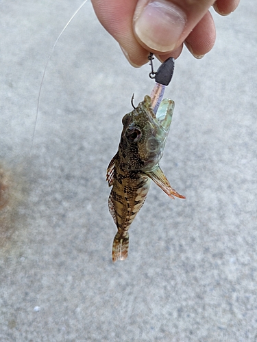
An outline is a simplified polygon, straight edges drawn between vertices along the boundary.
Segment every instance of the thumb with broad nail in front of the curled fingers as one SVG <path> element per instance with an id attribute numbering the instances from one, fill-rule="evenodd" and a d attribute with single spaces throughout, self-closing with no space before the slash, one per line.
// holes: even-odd
<path id="1" fill-rule="evenodd" d="M 134 34 L 139 44 L 164 53 L 180 47 L 214 0 L 139 0 Z"/>

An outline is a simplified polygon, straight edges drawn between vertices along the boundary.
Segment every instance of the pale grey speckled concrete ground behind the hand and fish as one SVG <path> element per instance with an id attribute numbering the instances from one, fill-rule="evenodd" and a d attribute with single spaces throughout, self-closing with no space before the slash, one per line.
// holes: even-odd
<path id="1" fill-rule="evenodd" d="M 49 62 L 30 151 L 47 57 L 80 3 L 0 2 L 0 341 L 257 341 L 254 1 L 214 13 L 214 49 L 175 62 L 160 165 L 186 200 L 152 184 L 115 264 L 106 167 L 154 81 L 89 2 Z"/>

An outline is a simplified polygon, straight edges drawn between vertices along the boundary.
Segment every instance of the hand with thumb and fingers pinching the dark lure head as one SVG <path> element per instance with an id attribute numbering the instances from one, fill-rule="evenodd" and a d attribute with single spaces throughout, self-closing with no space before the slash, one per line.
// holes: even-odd
<path id="1" fill-rule="evenodd" d="M 149 51 L 161 61 L 177 58 L 183 43 L 201 58 L 215 44 L 211 5 L 228 15 L 240 0 L 92 0 L 100 23 L 119 42 L 132 66 L 147 63 Z"/>

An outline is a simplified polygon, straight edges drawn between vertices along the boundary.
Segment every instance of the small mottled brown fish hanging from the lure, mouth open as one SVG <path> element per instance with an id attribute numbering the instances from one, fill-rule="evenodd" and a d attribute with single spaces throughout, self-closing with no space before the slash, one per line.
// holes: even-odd
<path id="1" fill-rule="evenodd" d="M 117 234 L 112 244 L 114 262 L 127 258 L 128 230 L 145 202 L 151 181 L 169 197 L 185 198 L 171 187 L 159 166 L 173 109 L 174 102 L 165 98 L 155 114 L 151 97 L 146 95 L 144 100 L 122 119 L 123 131 L 119 148 L 110 161 L 106 174 L 106 181 L 109 187 L 112 187 L 108 207 L 117 226 Z"/>

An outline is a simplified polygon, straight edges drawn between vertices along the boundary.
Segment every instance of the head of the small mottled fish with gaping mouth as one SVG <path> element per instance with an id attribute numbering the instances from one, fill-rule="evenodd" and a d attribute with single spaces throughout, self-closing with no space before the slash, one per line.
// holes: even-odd
<path id="1" fill-rule="evenodd" d="M 149 171 L 160 161 L 171 125 L 174 102 L 165 98 L 154 114 L 150 96 L 123 117 L 119 155 L 125 170 Z"/>

